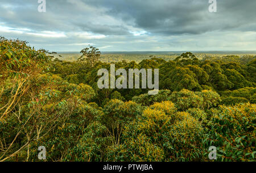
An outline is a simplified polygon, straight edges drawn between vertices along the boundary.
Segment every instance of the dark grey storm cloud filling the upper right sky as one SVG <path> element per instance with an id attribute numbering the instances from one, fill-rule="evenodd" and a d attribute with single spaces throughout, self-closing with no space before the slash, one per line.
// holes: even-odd
<path id="1" fill-rule="evenodd" d="M 217 0 L 217 13 L 208 11 L 207 0 L 98 1 L 86 3 L 108 7 L 106 14 L 130 22 L 151 33 L 203 33 L 214 30 L 255 31 L 256 1 Z M 254 23 L 254 26 L 251 26 Z M 249 26 L 249 28 L 247 27 Z"/>

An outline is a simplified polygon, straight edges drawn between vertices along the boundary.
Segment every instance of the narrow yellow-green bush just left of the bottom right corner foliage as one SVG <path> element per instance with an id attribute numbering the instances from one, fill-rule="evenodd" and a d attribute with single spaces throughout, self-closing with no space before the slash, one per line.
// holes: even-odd
<path id="1" fill-rule="evenodd" d="M 177 112 L 175 116 L 168 136 L 171 147 L 168 161 L 204 161 L 204 150 L 200 148 L 204 133 L 201 123 L 187 112 Z"/>

